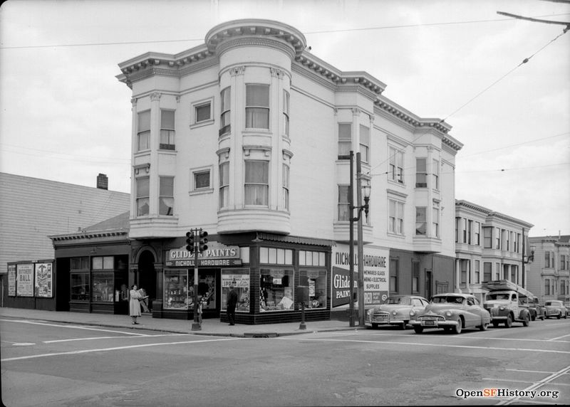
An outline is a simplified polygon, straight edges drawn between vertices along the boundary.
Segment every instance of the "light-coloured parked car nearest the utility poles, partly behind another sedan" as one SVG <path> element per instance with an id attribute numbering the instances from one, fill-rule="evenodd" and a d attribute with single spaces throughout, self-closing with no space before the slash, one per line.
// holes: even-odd
<path id="1" fill-rule="evenodd" d="M 416 295 L 393 295 L 382 305 L 366 311 L 366 325 L 378 328 L 379 325 L 397 325 L 405 329 L 411 319 L 422 314 L 430 302 Z"/>

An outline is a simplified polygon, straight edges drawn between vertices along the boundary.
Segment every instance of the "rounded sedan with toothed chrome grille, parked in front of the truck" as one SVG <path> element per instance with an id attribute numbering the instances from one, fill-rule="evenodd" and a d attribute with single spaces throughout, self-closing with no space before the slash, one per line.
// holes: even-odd
<path id="1" fill-rule="evenodd" d="M 490 323 L 491 315 L 474 295 L 454 292 L 434 295 L 425 312 L 410 321 L 416 334 L 430 328 L 443 328 L 455 334 L 466 328 L 486 331 Z"/>

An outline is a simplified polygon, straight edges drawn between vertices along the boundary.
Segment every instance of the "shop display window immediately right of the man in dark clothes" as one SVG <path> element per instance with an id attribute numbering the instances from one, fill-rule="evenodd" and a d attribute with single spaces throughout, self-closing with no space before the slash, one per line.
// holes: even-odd
<path id="1" fill-rule="evenodd" d="M 294 310 L 294 270 L 261 268 L 259 312 Z"/>

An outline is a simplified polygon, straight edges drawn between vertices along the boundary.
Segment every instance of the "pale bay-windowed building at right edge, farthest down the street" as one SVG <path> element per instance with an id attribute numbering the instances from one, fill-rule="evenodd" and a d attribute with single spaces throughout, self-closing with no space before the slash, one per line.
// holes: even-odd
<path id="1" fill-rule="evenodd" d="M 546 300 L 570 301 L 570 236 L 529 238 L 534 259 L 527 265 L 529 290 Z"/>

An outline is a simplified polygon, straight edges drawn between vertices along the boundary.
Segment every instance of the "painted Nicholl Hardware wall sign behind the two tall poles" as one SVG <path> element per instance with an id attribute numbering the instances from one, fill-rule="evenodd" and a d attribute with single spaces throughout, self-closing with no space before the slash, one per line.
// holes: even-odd
<path id="1" fill-rule="evenodd" d="M 354 250 L 354 287 L 358 287 L 358 256 Z M 348 245 L 333 247 L 333 307 L 346 305 L 350 300 L 350 254 Z M 381 304 L 388 297 L 389 251 L 364 247 L 364 305 Z M 356 290 L 355 290 L 356 291 Z"/>

